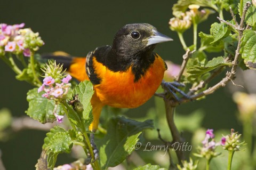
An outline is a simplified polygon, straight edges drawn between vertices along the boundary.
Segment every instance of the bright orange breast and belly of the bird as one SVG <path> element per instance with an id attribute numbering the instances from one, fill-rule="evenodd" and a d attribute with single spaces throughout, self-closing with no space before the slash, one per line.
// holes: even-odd
<path id="1" fill-rule="evenodd" d="M 113 72 L 95 58 L 93 66 L 102 79 L 94 86 L 95 93 L 103 104 L 118 108 L 135 108 L 148 101 L 161 84 L 166 70 L 163 59 L 158 56 L 146 74 L 134 82 L 131 67 L 125 72 Z"/>

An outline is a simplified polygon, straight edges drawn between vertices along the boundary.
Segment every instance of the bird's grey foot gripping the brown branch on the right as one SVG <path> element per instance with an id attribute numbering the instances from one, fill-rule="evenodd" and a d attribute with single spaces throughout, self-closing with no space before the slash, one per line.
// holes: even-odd
<path id="1" fill-rule="evenodd" d="M 188 94 L 186 94 L 185 92 L 183 92 L 182 90 L 179 89 L 179 87 L 185 87 L 185 84 L 183 83 L 179 83 L 179 82 L 165 82 L 163 80 L 163 82 L 161 83 L 162 87 L 169 93 L 171 93 L 171 95 L 173 96 L 173 98 L 175 100 L 177 100 L 179 103 L 181 101 L 181 99 L 179 98 L 179 96 L 176 94 L 176 92 L 178 92 L 179 94 L 181 94 L 183 97 L 190 99 L 190 96 Z"/>

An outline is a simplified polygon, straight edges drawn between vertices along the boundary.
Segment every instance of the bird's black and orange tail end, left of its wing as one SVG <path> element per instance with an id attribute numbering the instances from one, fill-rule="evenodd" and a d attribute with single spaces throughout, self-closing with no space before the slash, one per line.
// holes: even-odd
<path id="1" fill-rule="evenodd" d="M 55 60 L 57 63 L 63 64 L 63 69 L 66 69 L 72 77 L 79 81 L 89 80 L 85 70 L 86 57 L 75 57 L 68 53 L 57 51 L 43 54 L 39 62 L 47 62 L 48 60 Z"/>

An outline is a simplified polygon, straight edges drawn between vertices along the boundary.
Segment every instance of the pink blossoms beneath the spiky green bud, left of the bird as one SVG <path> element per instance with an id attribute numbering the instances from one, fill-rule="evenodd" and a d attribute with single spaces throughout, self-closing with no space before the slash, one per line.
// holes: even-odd
<path id="1" fill-rule="evenodd" d="M 38 88 L 38 93 L 45 91 L 42 96 L 47 99 L 62 99 L 68 93 L 69 87 L 71 86 L 69 80 L 71 80 L 71 76 L 67 75 L 62 78 L 62 83 L 55 83 L 54 78 L 51 76 L 45 77 L 43 80 L 43 85 Z"/>

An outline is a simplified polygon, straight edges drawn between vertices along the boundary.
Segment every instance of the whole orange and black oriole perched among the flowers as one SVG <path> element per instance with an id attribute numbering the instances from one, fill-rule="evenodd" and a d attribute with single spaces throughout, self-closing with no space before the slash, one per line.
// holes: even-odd
<path id="1" fill-rule="evenodd" d="M 86 58 L 64 52 L 45 55 L 55 59 L 79 81 L 94 85 L 91 99 L 93 122 L 98 128 L 102 107 L 136 108 L 154 95 L 162 82 L 167 66 L 153 50 L 157 43 L 172 41 L 148 23 L 133 23 L 119 29 L 112 46 L 102 46 L 89 52 Z"/>

